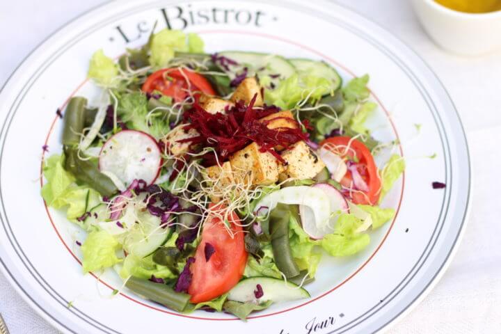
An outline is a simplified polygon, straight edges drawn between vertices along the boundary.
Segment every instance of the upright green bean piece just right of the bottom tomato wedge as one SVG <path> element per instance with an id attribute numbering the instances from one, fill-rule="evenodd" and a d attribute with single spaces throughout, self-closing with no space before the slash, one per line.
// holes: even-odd
<path id="1" fill-rule="evenodd" d="M 292 278 L 299 275 L 299 268 L 289 245 L 289 220 L 291 209 L 287 205 L 279 204 L 270 213 L 271 248 L 275 263 L 285 277 Z"/>

